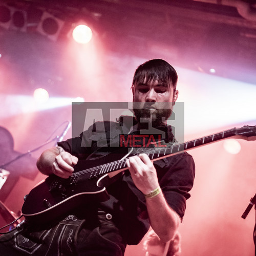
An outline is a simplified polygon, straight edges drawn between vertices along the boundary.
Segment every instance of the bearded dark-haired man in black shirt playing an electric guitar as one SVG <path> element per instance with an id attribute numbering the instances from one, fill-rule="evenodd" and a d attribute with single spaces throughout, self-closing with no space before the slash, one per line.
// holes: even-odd
<path id="1" fill-rule="evenodd" d="M 99 129 L 96 123 L 79 137 L 59 142 L 41 154 L 38 169 L 42 174 L 69 180 L 80 160 L 101 160 L 105 152 L 98 143 L 100 135 L 106 135 L 109 145 L 113 137 L 110 131 L 117 131 L 118 136 L 120 127 L 125 127 L 127 134 L 138 135 L 142 130 L 150 131 L 151 126 L 165 134 L 163 145 L 175 143 L 166 120 L 178 97 L 177 79 L 175 69 L 164 60 L 143 63 L 132 84 L 136 118 L 105 121 Z M 163 104 L 168 107 L 160 108 Z M 127 119 L 130 121 L 124 121 Z M 108 200 L 75 205 L 43 224 L 28 219 L 19 230 L 0 238 L 0 250 L 10 255 L 121 256 L 126 244 L 138 244 L 150 225 L 163 242 L 173 239 L 194 182 L 193 158 L 184 152 L 153 163 L 147 154 L 139 154 L 127 157 L 125 166 L 122 175 L 106 187 Z M 61 191 L 66 193 L 65 189 Z M 51 208 L 48 201 L 44 203 Z"/>

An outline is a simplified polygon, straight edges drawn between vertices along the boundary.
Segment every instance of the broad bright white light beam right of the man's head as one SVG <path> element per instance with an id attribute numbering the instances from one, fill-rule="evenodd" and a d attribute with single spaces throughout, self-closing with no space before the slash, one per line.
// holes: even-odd
<path id="1" fill-rule="evenodd" d="M 255 120 L 256 87 L 207 73 L 177 68 L 186 131 L 219 132 Z M 198 125 L 200 123 L 200 125 Z"/>

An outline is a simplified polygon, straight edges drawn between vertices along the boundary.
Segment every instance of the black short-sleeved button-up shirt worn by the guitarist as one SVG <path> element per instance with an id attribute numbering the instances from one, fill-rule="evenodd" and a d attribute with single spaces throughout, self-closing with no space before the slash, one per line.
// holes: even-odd
<path id="1" fill-rule="evenodd" d="M 109 154 L 114 156 L 116 152 L 120 153 L 120 134 L 125 135 L 126 139 L 134 124 L 131 118 L 125 119 L 129 121 L 124 123 L 123 118 L 119 118 L 118 122 L 97 122 L 79 137 L 59 142 L 58 145 L 77 156 L 78 159 L 92 160 L 97 165 L 97 159 Z M 129 135 L 136 135 L 139 132 L 135 131 Z M 160 127 L 161 132 L 165 133 L 162 144 L 173 143 L 174 138 L 170 126 Z M 186 200 L 190 197 L 188 191 L 193 187 L 195 178 L 193 158 L 185 152 L 156 160 L 154 166 L 167 203 L 182 220 Z M 139 243 L 150 227 L 150 223 L 144 195 L 134 185 L 129 171 L 125 170 L 119 179 L 106 187 L 106 190 L 110 199 L 99 203 L 98 207 L 113 215 L 113 221 L 120 229 L 127 244 Z"/>

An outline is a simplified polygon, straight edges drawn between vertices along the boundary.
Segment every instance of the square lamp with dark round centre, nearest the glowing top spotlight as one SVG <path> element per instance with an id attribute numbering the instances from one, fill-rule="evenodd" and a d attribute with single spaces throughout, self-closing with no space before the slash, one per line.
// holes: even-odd
<path id="1" fill-rule="evenodd" d="M 44 12 L 36 30 L 49 39 L 56 41 L 63 25 L 63 20 L 56 18 L 48 12 Z"/>

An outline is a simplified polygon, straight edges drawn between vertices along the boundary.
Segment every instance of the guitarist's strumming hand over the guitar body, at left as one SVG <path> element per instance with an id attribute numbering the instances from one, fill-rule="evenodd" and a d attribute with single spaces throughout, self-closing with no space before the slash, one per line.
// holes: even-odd
<path id="1" fill-rule="evenodd" d="M 68 179 L 74 172 L 73 166 L 77 164 L 78 158 L 63 151 L 55 157 L 52 164 L 52 173 L 64 179 Z"/>

